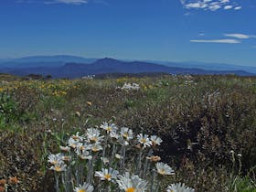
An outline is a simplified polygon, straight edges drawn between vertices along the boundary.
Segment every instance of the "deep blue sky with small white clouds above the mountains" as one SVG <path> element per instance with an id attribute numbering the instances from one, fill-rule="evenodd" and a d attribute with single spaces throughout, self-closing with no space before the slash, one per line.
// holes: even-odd
<path id="1" fill-rule="evenodd" d="M 207 61 L 256 66 L 255 0 L 1 0 L 0 58 Z"/>

